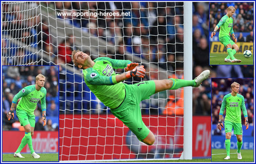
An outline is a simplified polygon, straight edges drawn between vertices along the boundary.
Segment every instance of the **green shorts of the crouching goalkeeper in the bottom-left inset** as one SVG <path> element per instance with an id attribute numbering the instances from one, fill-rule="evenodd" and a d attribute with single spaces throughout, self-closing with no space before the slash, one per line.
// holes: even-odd
<path id="1" fill-rule="evenodd" d="M 16 115 L 21 122 L 21 126 L 26 126 L 30 124 L 31 127 L 35 125 L 35 115 L 30 115 L 26 111 L 21 109 L 16 109 Z"/>

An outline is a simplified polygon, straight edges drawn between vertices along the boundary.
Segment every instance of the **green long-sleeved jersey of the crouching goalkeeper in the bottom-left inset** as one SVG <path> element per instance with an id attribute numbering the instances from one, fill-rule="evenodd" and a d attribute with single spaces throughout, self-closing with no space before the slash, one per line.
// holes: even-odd
<path id="1" fill-rule="evenodd" d="M 17 100 L 21 98 L 17 109 L 26 111 L 28 114 L 34 114 L 36 105 L 41 100 L 42 111 L 46 110 L 46 89 L 41 88 L 40 91 L 35 89 L 35 85 L 24 87 L 19 93 L 17 93 L 12 100 L 12 103 L 16 104 Z"/>

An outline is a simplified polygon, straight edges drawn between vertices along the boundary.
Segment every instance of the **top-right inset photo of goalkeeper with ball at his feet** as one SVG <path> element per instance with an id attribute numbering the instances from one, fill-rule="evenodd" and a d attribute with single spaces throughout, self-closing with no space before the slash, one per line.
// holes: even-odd
<path id="1" fill-rule="evenodd" d="M 209 64 L 253 65 L 254 2 L 209 5 Z"/>

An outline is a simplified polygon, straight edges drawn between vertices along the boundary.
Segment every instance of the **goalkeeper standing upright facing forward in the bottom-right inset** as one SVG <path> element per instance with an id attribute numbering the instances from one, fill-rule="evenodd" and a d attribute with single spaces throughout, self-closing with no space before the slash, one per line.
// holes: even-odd
<path id="1" fill-rule="evenodd" d="M 246 130 L 249 127 L 247 110 L 245 107 L 245 99 L 239 93 L 240 84 L 234 82 L 231 84 L 231 93 L 224 96 L 222 101 L 222 107 L 220 110 L 219 120 L 218 120 L 218 129 L 222 130 L 222 117 L 224 109 L 226 108 L 226 117 L 225 117 L 225 132 L 226 132 L 226 152 L 227 157 L 224 159 L 230 159 L 230 139 L 232 128 L 234 129 L 234 134 L 237 138 L 237 159 L 242 159 L 241 148 L 243 144 L 243 130 L 242 130 L 242 120 L 241 120 L 241 107 L 245 117 L 245 126 Z"/>

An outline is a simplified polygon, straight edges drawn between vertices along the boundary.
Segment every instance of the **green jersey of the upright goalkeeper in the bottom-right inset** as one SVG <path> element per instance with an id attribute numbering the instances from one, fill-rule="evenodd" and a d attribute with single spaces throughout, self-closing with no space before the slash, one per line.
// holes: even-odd
<path id="1" fill-rule="evenodd" d="M 236 96 L 232 96 L 231 93 L 229 93 L 223 98 L 220 115 L 223 115 L 224 109 L 226 108 L 225 120 L 234 123 L 242 123 L 241 107 L 244 117 L 247 117 L 244 96 L 242 96 L 241 94 L 236 94 Z"/>

